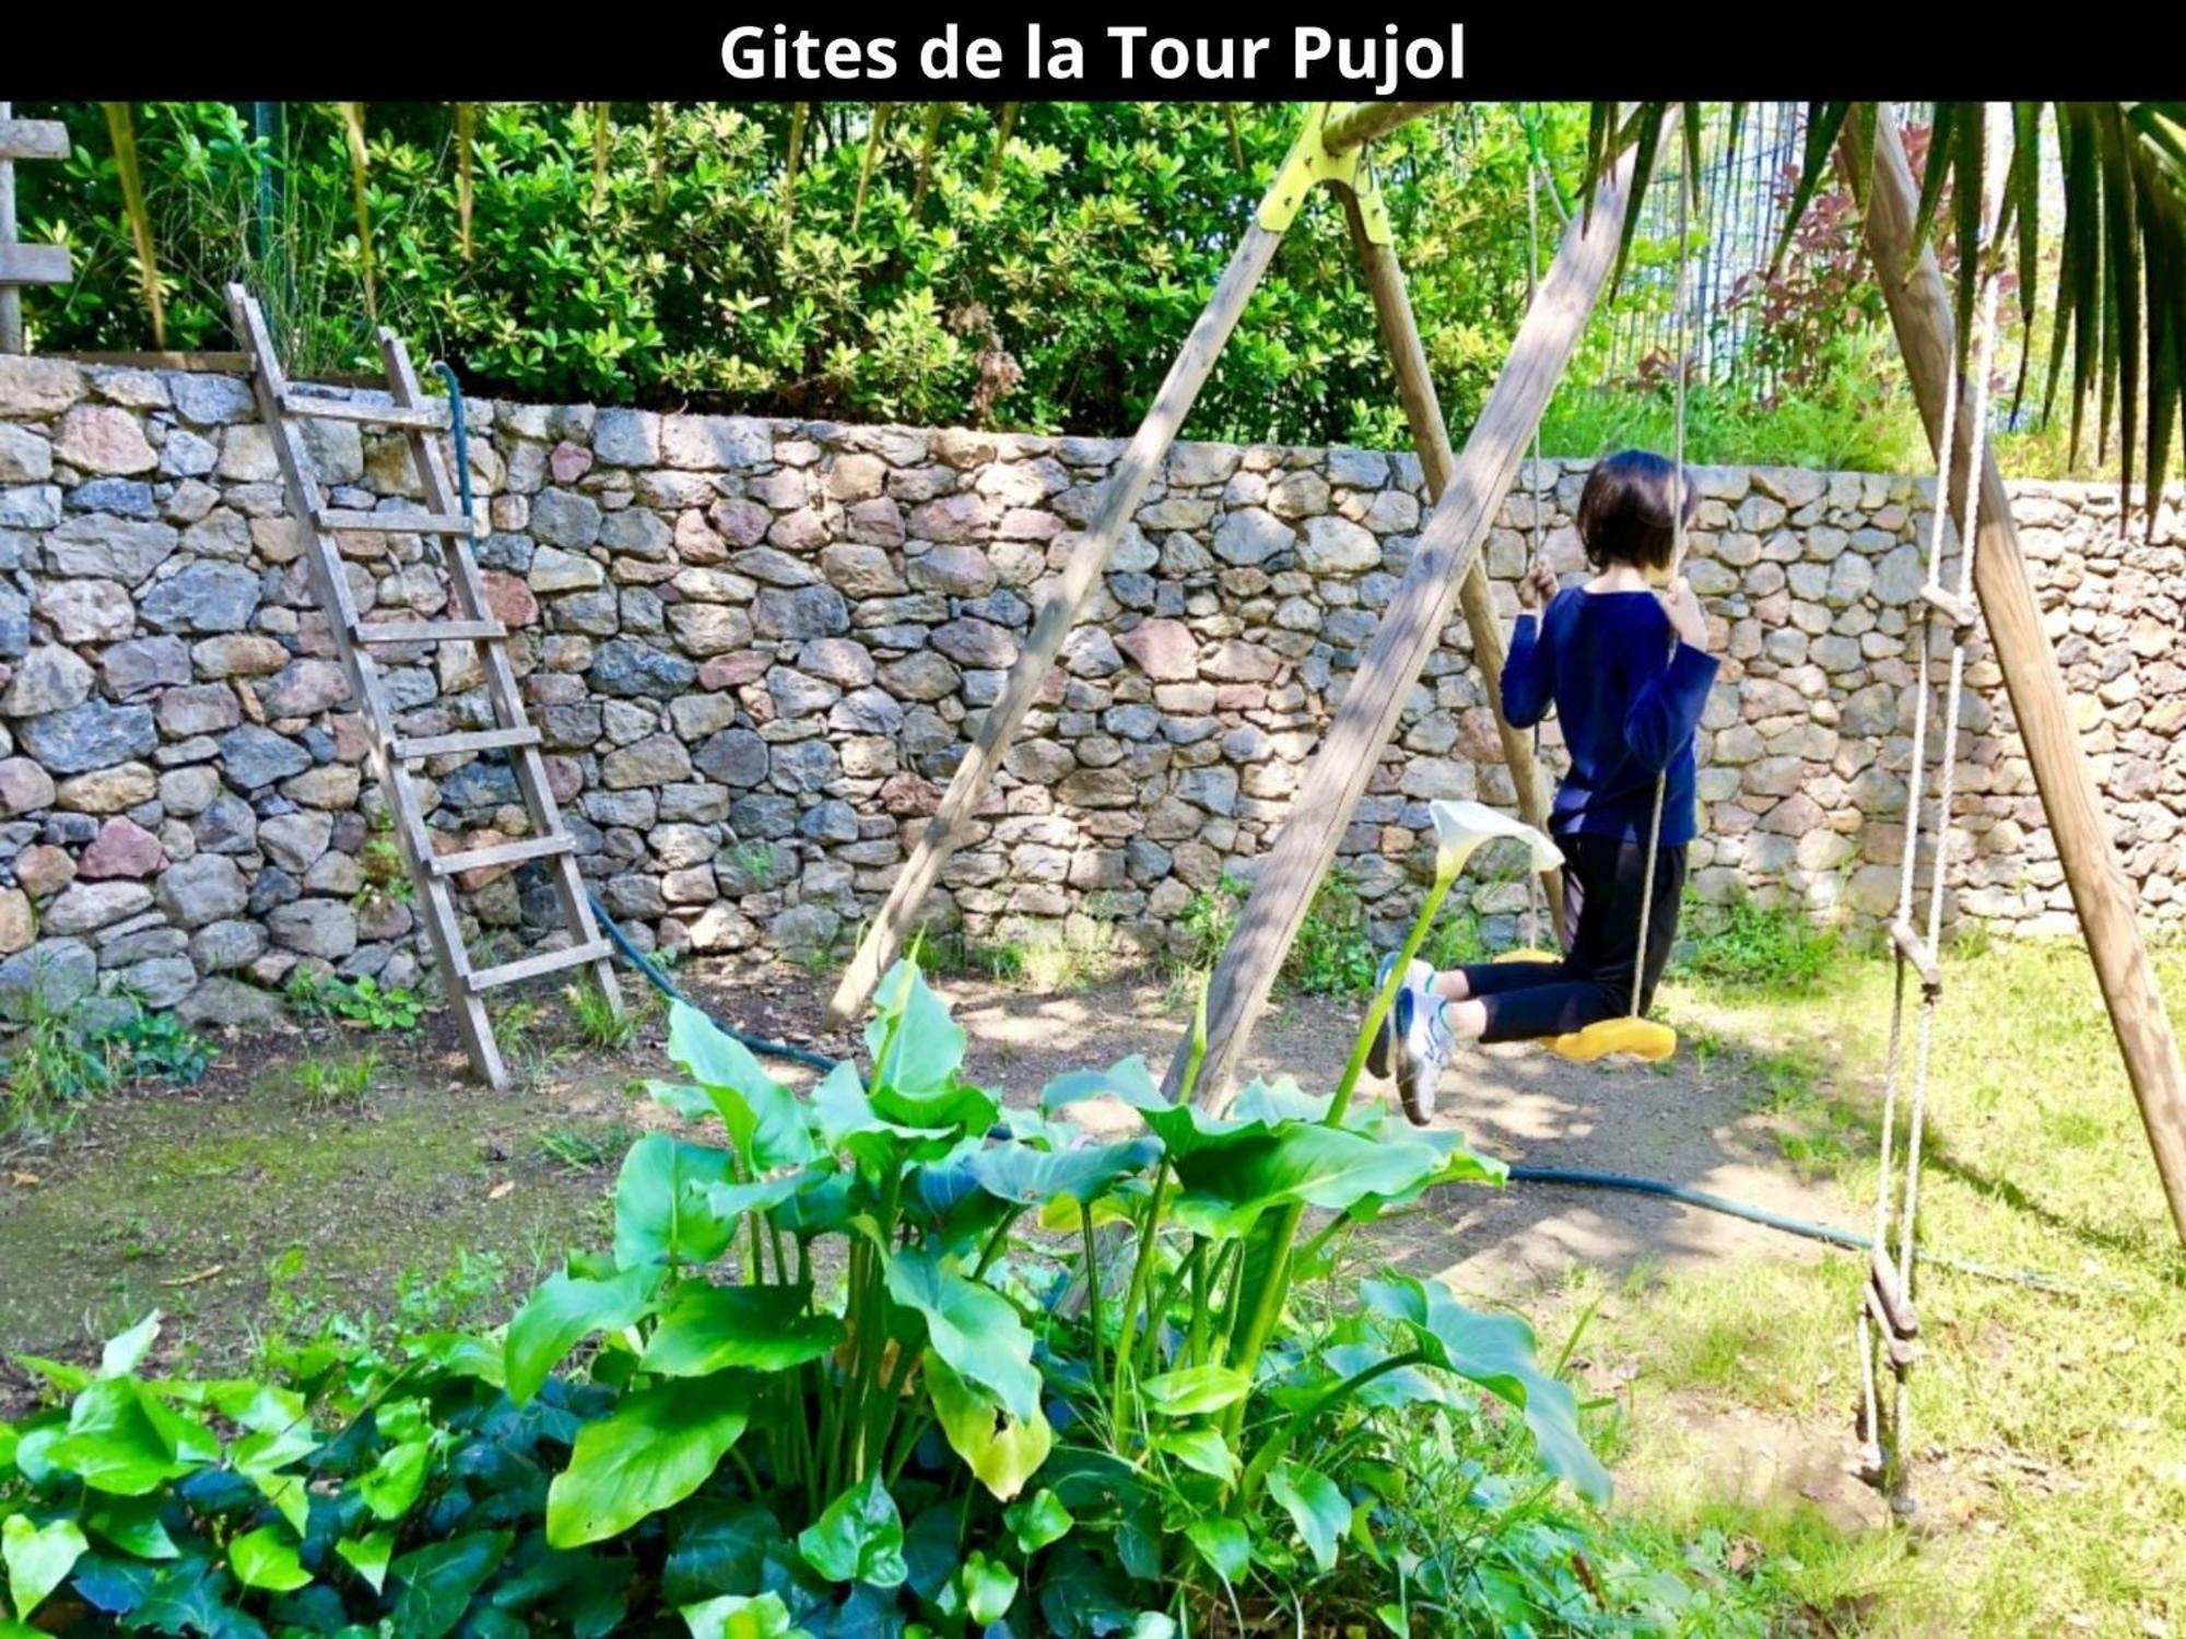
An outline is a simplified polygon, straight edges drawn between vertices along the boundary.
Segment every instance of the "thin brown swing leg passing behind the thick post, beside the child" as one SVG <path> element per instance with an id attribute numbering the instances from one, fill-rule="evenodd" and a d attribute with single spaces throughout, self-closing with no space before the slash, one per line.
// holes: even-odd
<path id="1" fill-rule="evenodd" d="M 1379 245 L 1366 234 L 1358 201 L 1344 194 L 1344 219 L 1351 223 L 1351 245 L 1360 253 L 1366 271 L 1366 288 L 1373 291 L 1373 310 L 1382 321 L 1382 345 L 1388 347 L 1388 363 L 1397 376 L 1397 398 L 1403 400 L 1403 420 L 1412 428 L 1412 446 L 1419 450 L 1419 468 L 1427 479 L 1427 503 L 1441 503 L 1449 487 L 1449 470 L 1458 463 L 1449 452 L 1449 426 L 1443 422 L 1443 404 L 1434 391 L 1434 376 L 1427 369 L 1427 347 L 1419 339 L 1419 321 L 1412 317 L 1412 297 L 1403 284 L 1403 264 L 1390 245 Z M 1539 474 L 1537 474 L 1539 476 Z M 1539 505 L 1539 496 L 1535 496 Z M 1495 614 L 1495 597 L 1489 592 L 1486 570 L 1473 557 L 1465 579 L 1458 581 L 1458 610 L 1473 638 L 1473 664 L 1486 684 L 1489 710 L 1495 712 L 1495 734 L 1502 739 L 1504 763 L 1511 767 L 1511 782 L 1517 787 L 1517 811 L 1535 830 L 1548 830 L 1548 787 L 1541 780 L 1539 760 L 1532 754 L 1532 736 L 1511 728 L 1502 708 L 1504 640 L 1502 618 Z M 1548 892 L 1548 924 L 1563 938 L 1563 872 L 1541 872 Z"/>

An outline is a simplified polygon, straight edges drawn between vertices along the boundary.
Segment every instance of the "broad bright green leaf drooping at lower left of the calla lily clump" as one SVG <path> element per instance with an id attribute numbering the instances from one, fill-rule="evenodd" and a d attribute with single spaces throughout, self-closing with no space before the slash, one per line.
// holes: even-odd
<path id="1" fill-rule="evenodd" d="M 734 1372 L 625 1394 L 577 1431 L 568 1469 L 546 1488 L 546 1541 L 584 1547 L 680 1504 L 737 1445 L 748 1410 Z"/>

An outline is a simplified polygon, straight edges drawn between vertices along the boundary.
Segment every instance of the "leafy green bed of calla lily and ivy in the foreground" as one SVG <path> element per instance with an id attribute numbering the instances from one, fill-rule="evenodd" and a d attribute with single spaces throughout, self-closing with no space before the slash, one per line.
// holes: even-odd
<path id="1" fill-rule="evenodd" d="M 640 1136 L 612 1252 L 573 1254 L 498 1340 L 321 1333 L 267 1381 L 184 1381 L 142 1370 L 153 1316 L 98 1368 L 24 1359 L 66 1403 L 0 1427 L 15 1617 L 1170 1635 L 1325 1584 L 1462 1630 L 1508 1608 L 1486 1571 L 1546 1490 L 1605 1495 L 1521 1320 L 1342 1267 L 1355 1224 L 1500 1176 L 1351 1110 L 1355 1069 L 1215 1117 L 1124 1060 L 1003 1110 L 912 966 L 866 1045 L 863 1075 L 798 1095 L 678 1005 L 680 1080 L 649 1090 L 713 1141 Z M 1089 1099 L 1141 1136 L 1073 1125 Z M 1423 1501 L 1406 1464 L 1434 1416 L 1482 1464 L 1469 1569 L 1384 1536 Z"/>

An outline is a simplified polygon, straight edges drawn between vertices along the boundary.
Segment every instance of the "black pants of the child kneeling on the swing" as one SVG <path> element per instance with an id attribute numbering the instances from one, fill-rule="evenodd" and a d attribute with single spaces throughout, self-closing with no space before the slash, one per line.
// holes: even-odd
<path id="1" fill-rule="evenodd" d="M 1556 846 L 1563 848 L 1563 962 L 1486 962 L 1462 970 L 1465 988 L 1489 1016 L 1484 1042 L 1563 1036 L 1631 1012 L 1646 844 L 1556 837 Z M 1683 894 L 1683 844 L 1657 850 L 1642 1012 L 1655 1003 L 1655 986 L 1670 962 Z"/>

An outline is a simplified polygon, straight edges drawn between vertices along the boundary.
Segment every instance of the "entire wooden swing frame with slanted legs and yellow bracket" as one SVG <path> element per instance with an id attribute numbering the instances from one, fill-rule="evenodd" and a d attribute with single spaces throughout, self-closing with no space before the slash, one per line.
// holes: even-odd
<path id="1" fill-rule="evenodd" d="M 1215 966 L 1207 999 L 1204 1064 L 1198 1080 L 1202 1095 L 1211 1101 L 1226 1097 L 1226 1086 L 1242 1062 L 1277 970 L 1336 859 L 1351 815 L 1403 712 L 1406 695 L 1441 642 L 1452 603 L 1460 608 L 1471 629 L 1473 658 L 1495 710 L 1504 758 L 1517 785 L 1519 811 L 1528 824 L 1546 830 L 1546 791 L 1532 747 L 1502 715 L 1497 680 L 1504 642 L 1480 568 L 1480 544 L 1517 476 L 1519 459 L 1548 409 L 1550 393 L 1563 378 L 1578 337 L 1609 282 L 1624 216 L 1633 203 L 1629 192 L 1635 153 L 1626 146 L 1618 155 L 1596 186 L 1591 210 L 1578 212 L 1565 227 L 1554 264 L 1526 310 L 1511 356 L 1504 361 L 1465 450 L 1454 455 L 1427 372 L 1419 323 L 1406 293 L 1403 269 L 1397 262 L 1368 164 L 1375 138 L 1441 107 L 1447 105 L 1316 103 L 1307 107 L 1303 131 L 1239 238 L 1207 308 L 1187 334 L 1137 437 L 1110 474 L 1100 509 L 1062 575 L 1047 590 L 1001 695 L 988 708 L 938 811 L 918 835 L 888 903 L 835 988 L 828 1001 L 831 1025 L 842 1025 L 866 1007 L 881 972 L 912 931 L 918 907 L 931 892 L 940 868 L 971 837 L 995 769 L 1023 728 L 1049 669 L 1060 658 L 1062 642 L 1084 612 L 1108 555 L 1130 527 L 1154 472 L 1191 411 L 1194 398 L 1237 326 L 1246 299 L 1268 271 L 1283 232 L 1296 219 L 1305 197 L 1318 186 L 1331 188 L 1342 201 L 1434 511 L 1419 533 L 1403 581 L 1344 691 L 1323 745 L 1305 769 L 1292 809 L 1237 918 L 1237 929 Z M 1954 317 L 1935 256 L 1921 251 L 1915 260 L 1911 253 L 1919 190 L 1891 105 L 1880 107 L 1871 153 L 1860 151 L 1847 125 L 1836 157 L 1841 170 L 1852 177 L 1858 177 L 1860 164 L 1869 166 L 1862 214 L 1867 253 L 1889 306 L 1891 328 L 1921 420 L 1928 426 L 1928 441 L 1937 446 L 1943 402 L 1956 369 Z M 2109 841 L 2094 771 L 2072 728 L 2064 671 L 2042 629 L 2042 612 L 2026 559 L 2020 553 L 2002 472 L 1994 455 L 1985 446 L 1978 448 L 1983 450 L 1983 470 L 1974 592 L 2018 719 L 2020 739 L 2026 745 L 2026 760 L 2057 844 L 2096 983 L 2109 1010 L 2118 1056 L 2140 1106 L 2173 1226 L 2186 1241 L 2186 1066 L 2182 1066 L 2177 1038 L 2155 988 L 2131 883 Z M 1972 463 L 1974 450 L 1974 428 L 1961 417 L 1948 452 L 1950 468 L 1959 479 Z M 1965 485 L 1954 483 L 1948 494 L 1965 494 Z M 1956 500 L 1950 505 L 1956 507 Z M 1548 881 L 1554 892 L 1554 879 Z M 1189 1047 L 1180 1047 L 1170 1064 L 1172 1090 L 1183 1073 L 1187 1051 Z"/>

